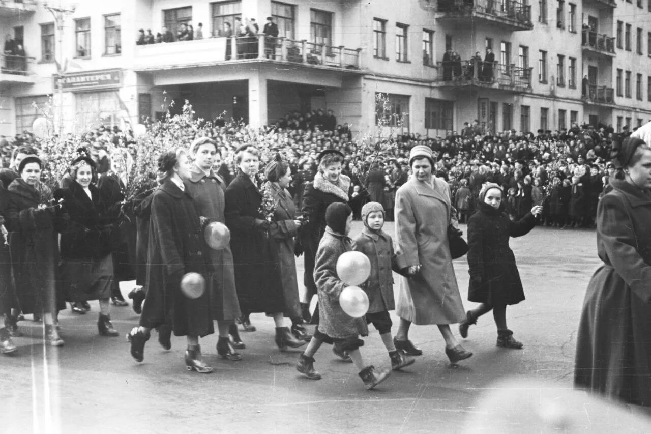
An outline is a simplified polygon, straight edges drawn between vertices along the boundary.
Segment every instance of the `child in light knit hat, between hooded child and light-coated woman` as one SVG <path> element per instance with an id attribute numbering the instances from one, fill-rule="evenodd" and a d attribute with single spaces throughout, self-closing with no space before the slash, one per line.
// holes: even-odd
<path id="1" fill-rule="evenodd" d="M 380 338 L 389 351 L 391 369 L 397 371 L 411 365 L 415 359 L 396 350 L 391 336 L 393 323 L 389 311 L 396 308 L 391 270 L 398 270 L 393 240 L 382 230 L 384 209 L 380 203 L 368 202 L 362 207 L 361 214 L 364 229 L 353 239 L 353 250 L 364 253 L 370 259 L 370 276 L 363 285 L 359 285 L 368 295 L 366 319 L 380 332 Z"/>

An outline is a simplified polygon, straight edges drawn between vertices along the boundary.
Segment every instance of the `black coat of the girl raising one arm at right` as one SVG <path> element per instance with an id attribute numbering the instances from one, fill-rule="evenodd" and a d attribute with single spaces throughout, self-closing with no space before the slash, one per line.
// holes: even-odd
<path id="1" fill-rule="evenodd" d="M 477 205 L 477 212 L 468 220 L 468 300 L 494 306 L 519 303 L 525 294 L 508 239 L 529 233 L 536 218 L 528 212 L 512 221 L 502 209 L 487 203 Z"/>

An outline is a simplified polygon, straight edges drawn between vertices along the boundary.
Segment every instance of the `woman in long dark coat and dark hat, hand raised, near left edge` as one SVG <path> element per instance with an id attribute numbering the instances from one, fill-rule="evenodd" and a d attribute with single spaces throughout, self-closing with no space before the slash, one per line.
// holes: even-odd
<path id="1" fill-rule="evenodd" d="M 57 316 L 65 303 L 57 297 L 59 248 L 53 195 L 40 182 L 41 170 L 40 159 L 28 156 L 18 166 L 19 177 L 9 185 L 10 251 L 21 310 L 42 316 L 48 344 L 60 347 Z"/>

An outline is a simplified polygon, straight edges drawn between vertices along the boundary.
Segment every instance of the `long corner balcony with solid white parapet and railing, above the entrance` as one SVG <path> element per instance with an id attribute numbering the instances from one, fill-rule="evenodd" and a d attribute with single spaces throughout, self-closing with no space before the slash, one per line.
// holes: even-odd
<path id="1" fill-rule="evenodd" d="M 279 63 L 306 68 L 361 72 L 361 48 L 314 44 L 271 36 L 216 37 L 139 45 L 134 69 L 152 71 L 233 63 Z"/>

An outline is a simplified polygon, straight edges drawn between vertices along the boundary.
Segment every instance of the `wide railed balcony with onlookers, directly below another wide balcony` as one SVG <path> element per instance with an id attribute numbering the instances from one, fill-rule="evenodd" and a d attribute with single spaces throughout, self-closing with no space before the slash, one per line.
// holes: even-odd
<path id="1" fill-rule="evenodd" d="M 447 63 L 447 65 L 445 65 Z M 456 65 L 455 65 L 456 64 Z M 484 67 L 480 59 L 462 62 L 437 62 L 436 83 L 439 87 L 475 86 L 502 89 L 515 93 L 531 92 L 531 71 L 516 65 L 494 63 Z"/>

